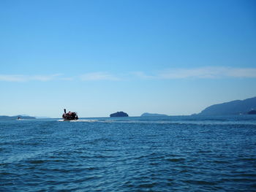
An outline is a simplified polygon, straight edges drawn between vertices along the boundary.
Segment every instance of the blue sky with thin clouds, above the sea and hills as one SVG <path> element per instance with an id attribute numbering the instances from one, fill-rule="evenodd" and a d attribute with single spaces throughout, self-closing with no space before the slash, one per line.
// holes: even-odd
<path id="1" fill-rule="evenodd" d="M 256 96 L 256 1 L 0 1 L 0 115 L 190 115 Z"/>

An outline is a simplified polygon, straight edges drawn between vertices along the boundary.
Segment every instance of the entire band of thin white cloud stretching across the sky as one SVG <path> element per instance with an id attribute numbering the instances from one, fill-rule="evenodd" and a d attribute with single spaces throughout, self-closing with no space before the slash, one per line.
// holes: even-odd
<path id="1" fill-rule="evenodd" d="M 0 74 L 0 81 L 6 82 L 29 82 L 41 81 L 119 81 L 131 80 L 137 77 L 141 80 L 177 80 L 177 79 L 216 79 L 216 78 L 256 78 L 256 68 L 235 68 L 225 66 L 208 66 L 200 68 L 175 68 L 165 69 L 159 72 L 127 72 L 123 74 L 111 74 L 110 72 L 91 72 L 74 77 L 65 77 L 64 74 L 48 75 L 23 75 L 23 74 Z"/>

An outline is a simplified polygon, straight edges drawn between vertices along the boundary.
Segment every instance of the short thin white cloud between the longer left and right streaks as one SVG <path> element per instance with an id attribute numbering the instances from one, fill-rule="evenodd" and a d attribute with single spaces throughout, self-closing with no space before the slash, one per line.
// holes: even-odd
<path id="1" fill-rule="evenodd" d="M 120 80 L 120 79 L 108 72 L 94 72 L 94 73 L 87 73 L 87 74 L 81 75 L 80 80 L 83 80 L 83 81 L 98 81 L 98 80 L 116 81 L 116 80 Z"/>

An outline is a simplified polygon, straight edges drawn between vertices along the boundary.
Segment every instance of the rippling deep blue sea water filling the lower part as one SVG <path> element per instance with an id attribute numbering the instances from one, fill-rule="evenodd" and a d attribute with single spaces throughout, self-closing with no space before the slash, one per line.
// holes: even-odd
<path id="1" fill-rule="evenodd" d="M 256 116 L 0 121 L 0 191 L 256 191 Z"/>

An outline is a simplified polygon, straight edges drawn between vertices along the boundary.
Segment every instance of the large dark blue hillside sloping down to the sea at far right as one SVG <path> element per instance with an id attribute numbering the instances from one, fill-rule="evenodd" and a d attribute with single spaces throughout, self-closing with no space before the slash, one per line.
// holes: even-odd
<path id="1" fill-rule="evenodd" d="M 206 107 L 198 115 L 239 115 L 247 114 L 252 109 L 256 109 L 256 97 L 214 104 Z"/>

